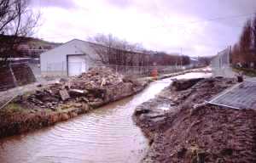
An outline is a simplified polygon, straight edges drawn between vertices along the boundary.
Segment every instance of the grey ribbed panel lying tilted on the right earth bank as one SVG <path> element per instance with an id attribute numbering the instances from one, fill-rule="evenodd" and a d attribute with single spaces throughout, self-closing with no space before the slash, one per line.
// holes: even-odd
<path id="1" fill-rule="evenodd" d="M 256 82 L 241 82 L 218 94 L 208 103 L 232 109 L 256 109 Z"/>

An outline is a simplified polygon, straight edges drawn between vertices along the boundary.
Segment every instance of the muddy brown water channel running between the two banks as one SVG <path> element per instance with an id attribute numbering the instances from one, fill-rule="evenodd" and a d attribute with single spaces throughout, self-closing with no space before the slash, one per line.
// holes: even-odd
<path id="1" fill-rule="evenodd" d="M 177 78 L 210 76 L 189 73 Z M 108 104 L 90 114 L 36 132 L 0 140 L 1 163 L 139 162 L 148 141 L 131 115 L 171 83 L 153 82 L 143 93 Z"/>

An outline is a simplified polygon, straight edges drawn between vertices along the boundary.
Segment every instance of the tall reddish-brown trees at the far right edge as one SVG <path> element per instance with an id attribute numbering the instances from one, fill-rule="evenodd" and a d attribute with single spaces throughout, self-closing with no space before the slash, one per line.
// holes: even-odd
<path id="1" fill-rule="evenodd" d="M 243 68 L 256 68 L 256 15 L 243 26 L 239 42 L 232 48 L 231 62 Z"/>

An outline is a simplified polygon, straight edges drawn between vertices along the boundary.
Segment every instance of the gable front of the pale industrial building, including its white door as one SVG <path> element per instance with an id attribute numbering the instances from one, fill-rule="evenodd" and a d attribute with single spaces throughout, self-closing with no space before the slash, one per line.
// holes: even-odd
<path id="1" fill-rule="evenodd" d="M 73 39 L 40 55 L 42 76 L 76 76 L 96 59 L 92 43 Z"/>

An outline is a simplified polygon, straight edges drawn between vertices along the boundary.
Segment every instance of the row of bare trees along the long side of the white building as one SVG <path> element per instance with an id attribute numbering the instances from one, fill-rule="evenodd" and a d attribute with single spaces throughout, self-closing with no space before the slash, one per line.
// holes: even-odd
<path id="1" fill-rule="evenodd" d="M 89 38 L 96 52 L 96 61 L 108 65 L 189 65 L 189 56 L 148 51 L 142 44 L 130 43 L 113 35 L 97 34 Z M 101 45 L 101 46 L 99 46 Z"/>

